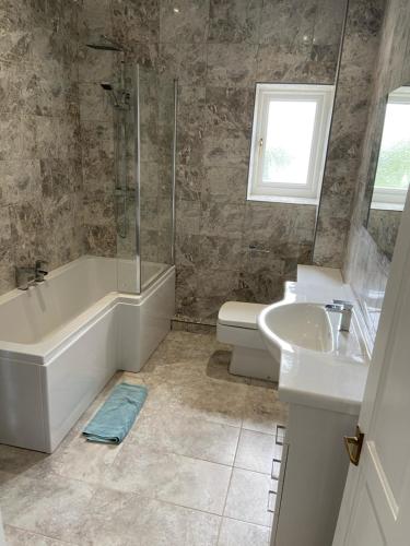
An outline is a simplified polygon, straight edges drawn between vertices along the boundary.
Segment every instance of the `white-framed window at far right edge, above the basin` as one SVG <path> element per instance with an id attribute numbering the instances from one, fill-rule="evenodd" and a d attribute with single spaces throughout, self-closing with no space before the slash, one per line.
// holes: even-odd
<path id="1" fill-rule="evenodd" d="M 410 87 L 390 93 L 372 209 L 402 211 L 410 182 Z"/>

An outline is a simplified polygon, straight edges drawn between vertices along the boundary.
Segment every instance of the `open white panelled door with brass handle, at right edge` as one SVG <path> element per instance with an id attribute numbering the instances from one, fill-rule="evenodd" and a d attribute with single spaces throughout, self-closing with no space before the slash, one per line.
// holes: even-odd
<path id="1" fill-rule="evenodd" d="M 410 210 L 402 214 L 333 546 L 410 545 Z"/>

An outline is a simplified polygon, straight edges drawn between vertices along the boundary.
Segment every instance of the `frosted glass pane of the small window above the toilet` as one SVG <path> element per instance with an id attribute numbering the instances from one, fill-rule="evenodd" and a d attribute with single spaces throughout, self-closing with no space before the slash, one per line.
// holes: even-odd
<path id="1" fill-rule="evenodd" d="M 271 100 L 263 156 L 263 183 L 306 185 L 316 102 Z"/>

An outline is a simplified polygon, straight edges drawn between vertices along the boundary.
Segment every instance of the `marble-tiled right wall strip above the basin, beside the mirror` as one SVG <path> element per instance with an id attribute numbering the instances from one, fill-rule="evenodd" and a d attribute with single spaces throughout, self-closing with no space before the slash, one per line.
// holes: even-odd
<path id="1" fill-rule="evenodd" d="M 376 169 L 384 120 L 380 112 L 383 114 L 386 96 L 410 82 L 410 9 L 406 0 L 387 2 L 343 266 L 344 276 L 359 297 L 373 335 L 377 330 L 390 262 L 379 252 L 363 227 L 363 205 L 367 199 L 367 182 L 374 177 Z"/>

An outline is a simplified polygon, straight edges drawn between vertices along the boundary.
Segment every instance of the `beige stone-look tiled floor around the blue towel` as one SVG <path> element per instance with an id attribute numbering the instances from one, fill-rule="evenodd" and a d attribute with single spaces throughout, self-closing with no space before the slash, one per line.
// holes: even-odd
<path id="1" fill-rule="evenodd" d="M 9 545 L 268 545 L 272 435 L 286 408 L 271 384 L 230 376 L 229 358 L 212 335 L 171 332 L 52 455 L 0 446 Z M 118 381 L 149 388 L 131 432 L 118 447 L 84 441 Z"/>

